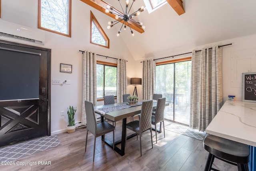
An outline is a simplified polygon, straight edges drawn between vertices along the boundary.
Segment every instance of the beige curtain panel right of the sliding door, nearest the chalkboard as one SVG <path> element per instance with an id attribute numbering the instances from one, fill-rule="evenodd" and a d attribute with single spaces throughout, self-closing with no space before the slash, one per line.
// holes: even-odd
<path id="1" fill-rule="evenodd" d="M 205 131 L 222 107 L 222 48 L 193 51 L 190 91 L 190 127 Z"/>

